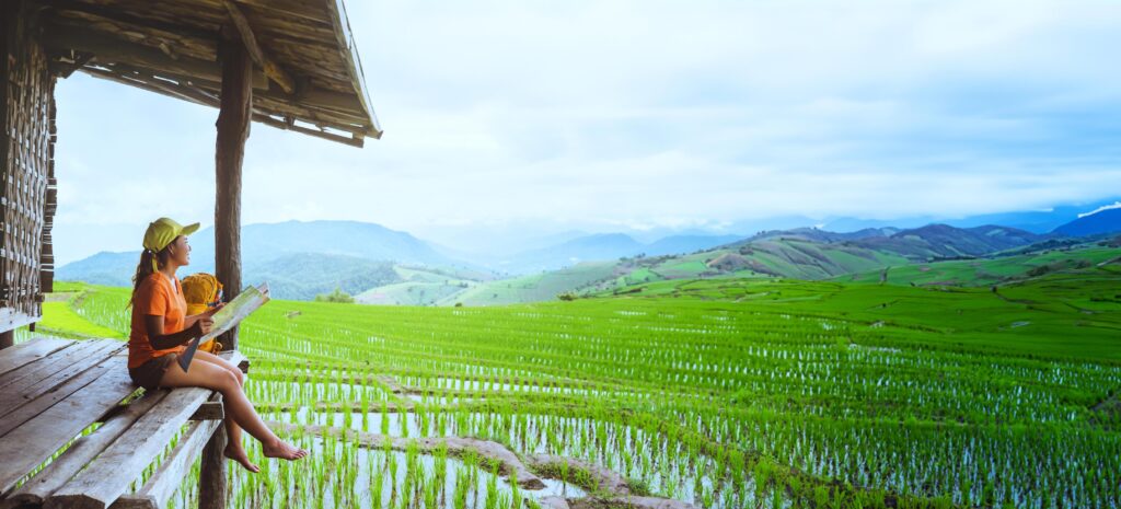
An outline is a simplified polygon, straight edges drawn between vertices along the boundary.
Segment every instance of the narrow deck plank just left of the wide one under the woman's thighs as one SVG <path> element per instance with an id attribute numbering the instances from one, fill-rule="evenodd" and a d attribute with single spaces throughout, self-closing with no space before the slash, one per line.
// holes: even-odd
<path id="1" fill-rule="evenodd" d="M 157 390 L 130 402 L 126 409 L 105 420 L 98 431 L 74 442 L 70 448 L 29 479 L 4 500 L 0 509 L 13 509 L 24 505 L 40 506 L 43 501 L 63 487 L 87 463 L 101 454 L 110 443 L 132 426 L 168 395 L 168 390 Z"/>

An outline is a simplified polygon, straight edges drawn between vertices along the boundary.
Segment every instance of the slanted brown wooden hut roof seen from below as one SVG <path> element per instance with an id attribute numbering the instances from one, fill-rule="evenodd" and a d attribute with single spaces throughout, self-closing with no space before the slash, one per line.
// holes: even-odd
<path id="1" fill-rule="evenodd" d="M 342 0 L 39 0 L 44 45 L 74 71 L 217 108 L 219 46 L 257 65 L 253 120 L 362 146 L 381 128 Z"/>

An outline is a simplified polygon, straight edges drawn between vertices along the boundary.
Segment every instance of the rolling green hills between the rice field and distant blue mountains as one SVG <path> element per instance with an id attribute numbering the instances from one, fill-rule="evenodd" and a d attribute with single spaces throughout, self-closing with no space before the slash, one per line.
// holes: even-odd
<path id="1" fill-rule="evenodd" d="M 537 302 L 553 299 L 562 291 L 591 295 L 642 283 L 696 278 L 880 283 L 884 269 L 889 284 L 990 285 L 1087 267 L 1121 256 L 1117 246 L 1071 239 L 1047 240 L 1036 246 L 1055 249 L 1023 252 L 1029 249 L 1026 242 L 1039 239 L 1046 238 L 1001 226 L 955 229 L 938 224 L 898 232 L 890 229 L 847 234 L 813 229 L 765 232 L 748 241 L 688 254 L 624 257 L 614 262 L 582 263 L 555 274 L 497 280 L 458 290 L 443 288 L 448 294 L 433 302 L 442 305 Z M 1016 252 L 1019 254 L 1012 254 Z M 973 258 L 978 253 L 991 253 L 991 258 Z M 947 257 L 971 259 L 928 261 Z"/>

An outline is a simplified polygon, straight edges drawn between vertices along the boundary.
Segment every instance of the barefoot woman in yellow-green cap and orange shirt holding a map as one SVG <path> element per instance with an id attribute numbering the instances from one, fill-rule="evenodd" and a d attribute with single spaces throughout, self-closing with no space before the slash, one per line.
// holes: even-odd
<path id="1" fill-rule="evenodd" d="M 143 235 L 143 252 L 132 278 L 132 332 L 129 334 L 129 376 L 146 390 L 160 387 L 205 387 L 222 392 L 225 407 L 225 429 L 229 443 L 225 456 L 241 463 L 250 472 L 260 469 L 249 462 L 241 446 L 241 429 L 261 442 L 268 457 L 298 460 L 307 451 L 281 441 L 261 417 L 242 389 L 241 370 L 226 360 L 196 351 L 187 371 L 175 362 L 192 339 L 210 333 L 212 316 L 221 306 L 187 316 L 187 303 L 175 271 L 191 262 L 187 237 L 198 223 L 183 226 L 167 218 L 148 225 Z"/>

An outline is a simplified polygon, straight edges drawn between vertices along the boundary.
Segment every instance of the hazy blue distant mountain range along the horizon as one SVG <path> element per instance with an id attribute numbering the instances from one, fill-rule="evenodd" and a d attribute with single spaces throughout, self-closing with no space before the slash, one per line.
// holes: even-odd
<path id="1" fill-rule="evenodd" d="M 350 294 L 364 294 L 369 302 L 450 303 L 461 293 L 499 299 L 501 291 L 487 294 L 485 288 L 524 280 L 520 287 L 517 283 L 507 285 L 526 290 L 532 284 L 525 280 L 557 270 L 580 275 L 575 277 L 581 281 L 577 287 L 593 285 L 611 275 L 630 274 L 627 266 L 633 266 L 634 259 L 647 265 L 649 260 L 660 260 L 663 265 L 703 260 L 694 263 L 696 270 L 669 269 L 668 277 L 676 272 L 749 270 L 815 279 L 892 263 L 982 257 L 1063 237 L 1121 231 L 1121 205 L 1101 204 L 1091 212 L 1073 214 L 1072 221 L 1045 233 L 1006 225 L 957 228 L 935 223 L 908 229 L 870 226 L 847 232 L 803 226 L 751 235 L 674 234 L 641 242 L 624 233 L 569 231 L 538 239 L 541 243 L 554 241 L 553 244 L 509 254 L 461 251 L 373 223 L 288 221 L 242 228 L 243 280 L 269 281 L 278 298 L 309 299 L 337 287 Z M 191 237 L 192 265 L 183 269 L 184 275 L 214 270 L 213 239 L 212 229 Z M 58 268 L 56 278 L 128 286 L 138 259 L 139 251 L 100 252 Z M 599 269 L 586 272 L 584 269 L 589 267 Z M 600 274 L 605 267 L 612 267 L 610 274 Z M 592 280 L 585 280 L 589 278 Z M 414 288 L 415 285 L 424 287 Z M 549 288 L 552 291 L 566 285 L 572 286 L 558 283 Z M 381 287 L 392 291 L 377 290 Z"/>

